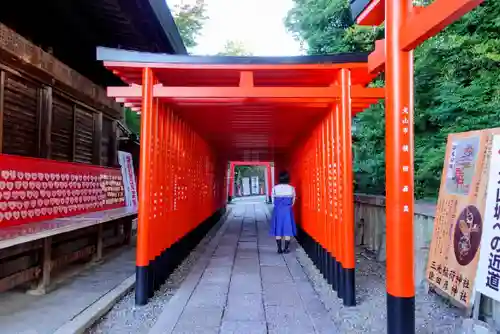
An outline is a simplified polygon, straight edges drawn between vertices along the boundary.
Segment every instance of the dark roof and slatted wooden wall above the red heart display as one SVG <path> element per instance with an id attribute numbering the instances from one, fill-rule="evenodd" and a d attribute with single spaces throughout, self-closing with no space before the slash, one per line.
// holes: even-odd
<path id="1" fill-rule="evenodd" d="M 95 48 L 186 53 L 165 1 L 26 6 L 0 11 L 0 152 L 116 166 L 123 109 L 102 87 L 120 79 Z"/>

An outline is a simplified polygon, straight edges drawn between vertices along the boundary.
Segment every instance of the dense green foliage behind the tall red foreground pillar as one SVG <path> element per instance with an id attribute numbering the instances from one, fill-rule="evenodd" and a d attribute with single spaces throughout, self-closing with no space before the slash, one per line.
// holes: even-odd
<path id="1" fill-rule="evenodd" d="M 348 0 L 294 3 L 285 24 L 310 54 L 371 51 L 383 37 L 383 28 L 352 25 Z M 417 198 L 437 197 L 448 134 L 500 126 L 499 31 L 500 6 L 486 1 L 415 50 Z M 354 122 L 356 191 L 383 194 L 384 105 L 371 107 Z"/>

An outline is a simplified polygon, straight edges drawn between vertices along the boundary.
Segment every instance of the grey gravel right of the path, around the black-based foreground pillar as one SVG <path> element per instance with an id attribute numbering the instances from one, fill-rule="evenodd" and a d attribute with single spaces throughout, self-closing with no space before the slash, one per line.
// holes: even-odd
<path id="1" fill-rule="evenodd" d="M 358 251 L 356 263 L 357 306 L 347 308 L 337 293 L 325 283 L 302 248 L 297 258 L 321 300 L 329 310 L 340 333 L 386 333 L 385 266 L 369 260 Z M 456 333 L 462 325 L 463 311 L 447 304 L 441 297 L 425 292 L 415 298 L 417 333 Z"/>

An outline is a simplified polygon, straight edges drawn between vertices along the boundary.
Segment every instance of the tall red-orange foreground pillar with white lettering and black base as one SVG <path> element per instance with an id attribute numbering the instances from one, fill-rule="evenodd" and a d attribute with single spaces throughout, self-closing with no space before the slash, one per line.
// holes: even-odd
<path id="1" fill-rule="evenodd" d="M 390 334 L 415 333 L 413 277 L 413 50 L 483 0 L 353 0 L 357 24 L 385 22 L 385 40 L 369 56 L 371 73 L 385 69 L 387 323 Z"/>

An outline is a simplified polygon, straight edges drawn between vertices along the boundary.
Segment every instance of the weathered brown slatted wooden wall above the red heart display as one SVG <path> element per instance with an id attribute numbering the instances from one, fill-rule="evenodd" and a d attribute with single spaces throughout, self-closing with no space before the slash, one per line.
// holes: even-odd
<path id="1" fill-rule="evenodd" d="M 0 152 L 117 166 L 122 108 L 0 24 Z"/>

